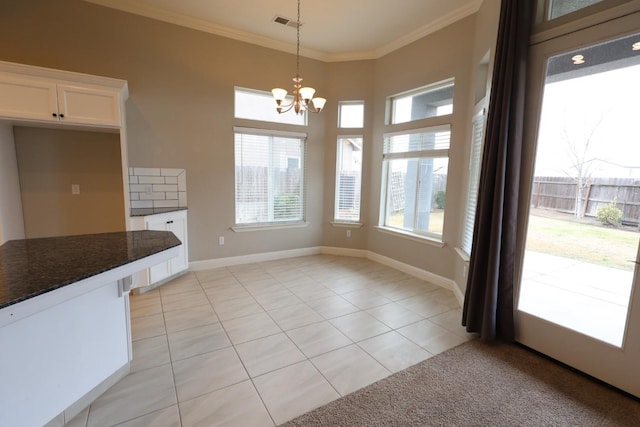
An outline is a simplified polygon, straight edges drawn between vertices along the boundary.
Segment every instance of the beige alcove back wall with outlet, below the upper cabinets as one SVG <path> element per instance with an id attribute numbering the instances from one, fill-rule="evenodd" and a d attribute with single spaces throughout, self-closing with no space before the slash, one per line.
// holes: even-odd
<path id="1" fill-rule="evenodd" d="M 27 238 L 124 231 L 120 137 L 15 127 Z M 71 185 L 80 194 L 71 194 Z"/>

